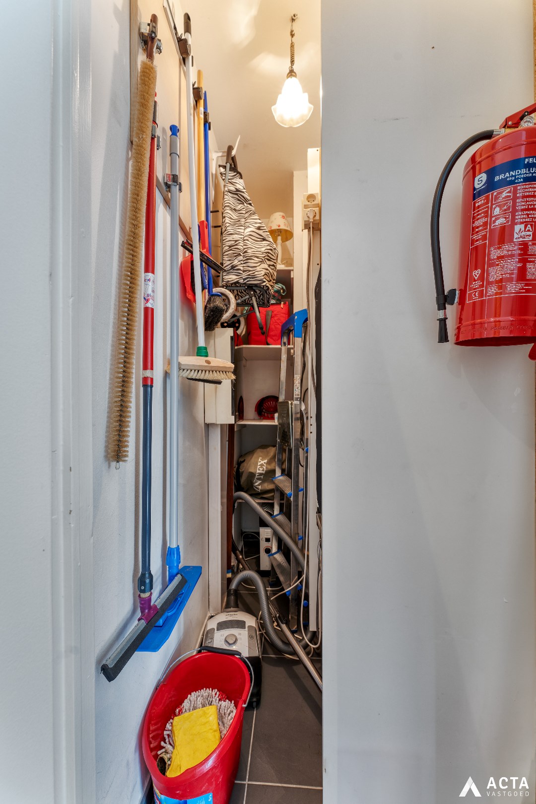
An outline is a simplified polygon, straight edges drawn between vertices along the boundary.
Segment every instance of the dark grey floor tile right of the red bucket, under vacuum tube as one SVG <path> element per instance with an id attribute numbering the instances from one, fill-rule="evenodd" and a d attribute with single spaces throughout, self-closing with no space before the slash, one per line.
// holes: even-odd
<path id="1" fill-rule="evenodd" d="M 305 667 L 264 657 L 249 780 L 320 787 L 321 721 L 321 692 Z"/>

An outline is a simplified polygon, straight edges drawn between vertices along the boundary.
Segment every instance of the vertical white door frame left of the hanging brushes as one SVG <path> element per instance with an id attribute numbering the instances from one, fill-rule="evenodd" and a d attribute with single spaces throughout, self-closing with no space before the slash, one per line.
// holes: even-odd
<path id="1" fill-rule="evenodd" d="M 91 3 L 51 2 L 51 31 L 54 786 L 56 804 L 92 804 Z"/>

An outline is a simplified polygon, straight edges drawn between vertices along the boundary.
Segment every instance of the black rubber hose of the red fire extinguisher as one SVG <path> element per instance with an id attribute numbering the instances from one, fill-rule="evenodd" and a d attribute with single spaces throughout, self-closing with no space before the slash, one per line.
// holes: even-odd
<path id="1" fill-rule="evenodd" d="M 444 166 L 440 175 L 440 180 L 436 186 L 436 192 L 434 193 L 434 200 L 432 201 L 432 216 L 430 219 L 430 241 L 432 244 L 432 265 L 434 269 L 434 281 L 436 282 L 436 304 L 438 314 L 437 321 L 439 322 L 437 343 L 448 343 L 447 314 L 445 311 L 447 309 L 447 303 L 454 304 L 455 301 L 454 298 L 455 294 L 453 294 L 452 300 L 450 299 L 450 297 L 448 298 L 447 295 L 445 294 L 443 265 L 441 263 L 440 211 L 441 211 L 441 201 L 443 199 L 444 188 L 447 183 L 447 179 L 452 172 L 452 168 L 456 165 L 456 162 L 458 161 L 460 156 L 464 154 L 465 151 L 468 150 L 471 146 L 476 145 L 477 142 L 490 140 L 498 133 L 501 132 L 495 131 L 493 129 L 489 129 L 489 131 L 479 131 L 477 134 L 473 134 L 473 137 L 468 137 L 468 139 L 466 139 L 465 142 L 462 142 L 461 145 L 458 148 L 456 148 L 451 158 Z"/>

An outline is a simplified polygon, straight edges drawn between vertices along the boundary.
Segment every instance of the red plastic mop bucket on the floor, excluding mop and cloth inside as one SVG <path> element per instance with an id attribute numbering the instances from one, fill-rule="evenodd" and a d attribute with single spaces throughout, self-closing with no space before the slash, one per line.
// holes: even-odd
<path id="1" fill-rule="evenodd" d="M 184 659 L 155 691 L 145 715 L 141 747 L 153 778 L 156 804 L 228 804 L 235 783 L 242 742 L 243 710 L 248 703 L 251 679 L 248 667 L 233 654 L 218 649 Z M 164 728 L 175 709 L 190 692 L 211 687 L 224 692 L 235 704 L 236 714 L 223 740 L 207 759 L 176 777 L 162 776 L 157 768 Z"/>

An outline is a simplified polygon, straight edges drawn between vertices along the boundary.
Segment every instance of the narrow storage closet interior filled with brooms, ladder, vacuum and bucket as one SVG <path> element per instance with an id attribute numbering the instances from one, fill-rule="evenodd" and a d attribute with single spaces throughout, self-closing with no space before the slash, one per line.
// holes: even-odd
<path id="1" fill-rule="evenodd" d="M 130 9 L 107 449 L 120 486 L 135 456 L 139 614 L 97 693 L 113 709 L 144 662 L 146 802 L 316 804 L 320 3 L 181 6 Z"/>

